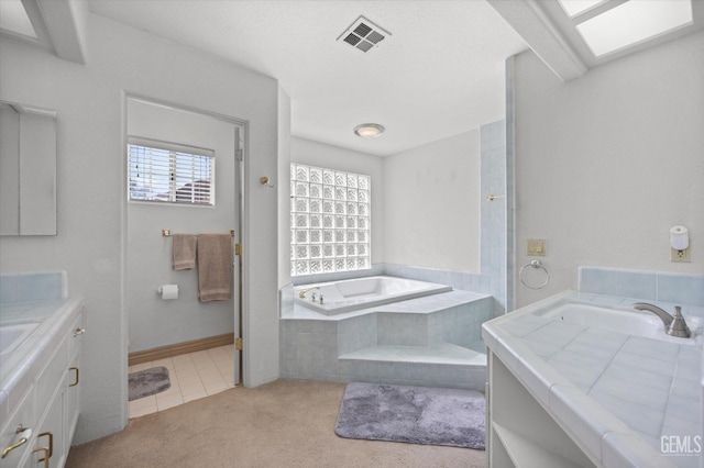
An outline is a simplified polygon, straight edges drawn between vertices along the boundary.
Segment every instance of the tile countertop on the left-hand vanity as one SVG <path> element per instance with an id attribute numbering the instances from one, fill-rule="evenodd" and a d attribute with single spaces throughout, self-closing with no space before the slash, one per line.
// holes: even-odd
<path id="1" fill-rule="evenodd" d="M 0 421 L 7 421 L 34 383 L 82 305 L 80 296 L 0 304 L 0 326 L 38 323 L 26 339 L 0 361 Z"/>

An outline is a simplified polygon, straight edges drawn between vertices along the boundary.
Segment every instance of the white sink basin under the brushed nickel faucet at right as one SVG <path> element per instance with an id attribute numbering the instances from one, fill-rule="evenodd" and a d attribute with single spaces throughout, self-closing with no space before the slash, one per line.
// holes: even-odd
<path id="1" fill-rule="evenodd" d="M 686 317 L 688 326 L 692 331 L 692 337 L 681 338 L 668 335 L 660 317 L 650 312 L 608 309 L 580 303 L 562 304 L 556 309 L 540 313 L 540 315 L 547 319 L 563 320 L 579 325 L 608 330 L 626 335 L 644 336 L 684 345 L 695 344 L 694 331 L 702 326 L 701 320 Z"/>

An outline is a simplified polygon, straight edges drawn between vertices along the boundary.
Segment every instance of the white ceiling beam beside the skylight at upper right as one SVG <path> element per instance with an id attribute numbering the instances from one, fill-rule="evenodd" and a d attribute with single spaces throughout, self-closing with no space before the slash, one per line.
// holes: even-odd
<path id="1" fill-rule="evenodd" d="M 535 0 L 487 1 L 560 79 L 569 81 L 587 71 L 587 66 Z"/>

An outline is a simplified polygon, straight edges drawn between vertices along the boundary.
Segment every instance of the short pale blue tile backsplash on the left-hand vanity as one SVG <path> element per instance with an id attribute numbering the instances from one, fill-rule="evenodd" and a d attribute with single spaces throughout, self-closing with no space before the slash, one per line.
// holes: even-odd
<path id="1" fill-rule="evenodd" d="M 0 304 L 68 297 L 66 271 L 0 275 Z"/>

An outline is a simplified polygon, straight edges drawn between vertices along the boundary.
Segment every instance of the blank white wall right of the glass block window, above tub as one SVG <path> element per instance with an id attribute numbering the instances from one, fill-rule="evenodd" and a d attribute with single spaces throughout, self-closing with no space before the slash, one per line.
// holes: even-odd
<path id="1" fill-rule="evenodd" d="M 480 132 L 384 158 L 384 261 L 480 272 Z"/>

